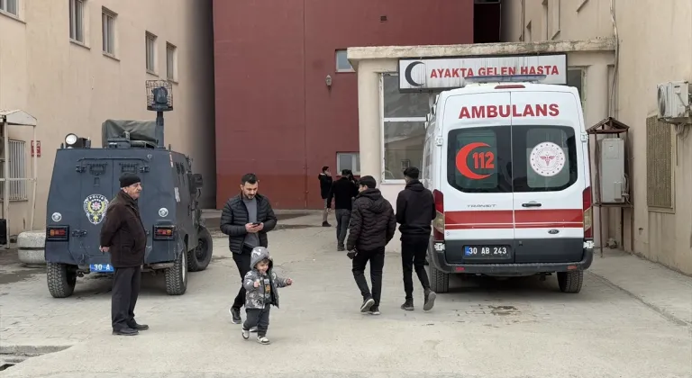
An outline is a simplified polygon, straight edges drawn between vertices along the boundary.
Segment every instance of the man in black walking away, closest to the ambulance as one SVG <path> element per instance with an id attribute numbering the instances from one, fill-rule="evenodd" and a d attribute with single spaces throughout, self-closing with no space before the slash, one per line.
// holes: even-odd
<path id="1" fill-rule="evenodd" d="M 410 166 L 404 171 L 406 186 L 396 198 L 396 221 L 401 224 L 401 265 L 404 270 L 404 291 L 406 300 L 401 308 L 414 310 L 415 274 L 423 285 L 423 310 L 429 311 L 435 302 L 435 293 L 430 290 L 428 275 L 425 273 L 425 254 L 430 241 L 431 223 L 435 219 L 435 201 L 432 192 L 418 181 L 419 171 Z"/>

